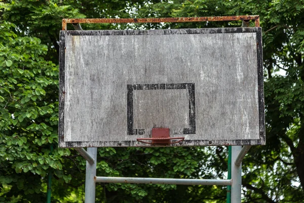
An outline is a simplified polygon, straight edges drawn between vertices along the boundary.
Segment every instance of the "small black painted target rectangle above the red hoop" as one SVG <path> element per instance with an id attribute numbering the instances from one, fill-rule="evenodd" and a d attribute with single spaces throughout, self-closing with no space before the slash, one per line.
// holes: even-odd
<path id="1" fill-rule="evenodd" d="M 187 89 L 189 101 L 189 128 L 170 129 L 172 134 L 196 133 L 195 110 L 195 84 L 194 83 L 161 83 L 161 84 L 129 84 L 127 85 L 127 135 L 138 136 L 145 133 L 144 129 L 133 128 L 133 91 L 135 90 L 161 90 L 161 89 Z"/>

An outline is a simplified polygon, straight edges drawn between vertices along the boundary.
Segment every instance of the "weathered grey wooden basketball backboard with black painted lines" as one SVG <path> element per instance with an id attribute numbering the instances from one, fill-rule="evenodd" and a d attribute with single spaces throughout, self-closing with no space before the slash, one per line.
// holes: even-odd
<path id="1" fill-rule="evenodd" d="M 60 147 L 264 145 L 261 28 L 60 32 Z"/>

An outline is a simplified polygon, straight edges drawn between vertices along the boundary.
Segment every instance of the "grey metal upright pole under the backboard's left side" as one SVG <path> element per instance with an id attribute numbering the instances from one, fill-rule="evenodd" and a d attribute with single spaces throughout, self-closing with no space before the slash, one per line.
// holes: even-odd
<path id="1" fill-rule="evenodd" d="M 88 147 L 88 154 L 94 159 L 97 160 L 97 147 Z M 95 202 L 95 181 L 94 177 L 96 176 L 96 162 L 92 164 L 87 161 L 86 167 L 86 189 L 85 189 L 85 203 L 94 203 Z"/>

